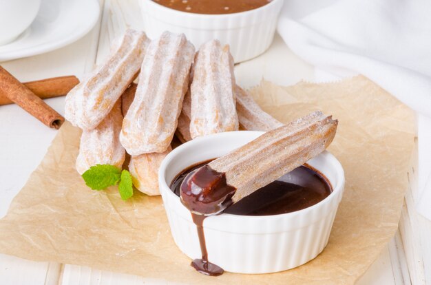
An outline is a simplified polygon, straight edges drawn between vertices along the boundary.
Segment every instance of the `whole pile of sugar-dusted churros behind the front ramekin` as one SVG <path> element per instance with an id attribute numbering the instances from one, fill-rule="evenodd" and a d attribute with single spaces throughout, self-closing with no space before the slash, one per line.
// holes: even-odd
<path id="1" fill-rule="evenodd" d="M 228 45 L 209 41 L 195 54 L 184 34 L 164 32 L 150 41 L 134 30 L 67 94 L 65 117 L 83 129 L 79 173 L 97 164 L 122 167 L 127 151 L 134 186 L 148 195 L 159 194 L 158 168 L 174 134 L 186 142 L 282 125 L 236 85 Z"/>

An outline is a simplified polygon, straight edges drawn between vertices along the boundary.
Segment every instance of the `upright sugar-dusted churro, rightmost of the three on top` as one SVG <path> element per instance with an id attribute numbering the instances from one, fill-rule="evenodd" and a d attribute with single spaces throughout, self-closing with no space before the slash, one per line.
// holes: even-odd
<path id="1" fill-rule="evenodd" d="M 235 74 L 229 45 L 204 43 L 196 53 L 191 83 L 191 138 L 237 131 Z"/>

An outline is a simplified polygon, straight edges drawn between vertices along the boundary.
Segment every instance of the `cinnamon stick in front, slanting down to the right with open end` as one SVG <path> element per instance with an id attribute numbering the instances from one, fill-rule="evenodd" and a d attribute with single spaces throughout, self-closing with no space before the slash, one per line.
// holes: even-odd
<path id="1" fill-rule="evenodd" d="M 63 116 L 43 102 L 41 98 L 1 66 L 0 95 L 9 98 L 10 101 L 19 105 L 48 127 L 59 129 L 64 122 Z"/>

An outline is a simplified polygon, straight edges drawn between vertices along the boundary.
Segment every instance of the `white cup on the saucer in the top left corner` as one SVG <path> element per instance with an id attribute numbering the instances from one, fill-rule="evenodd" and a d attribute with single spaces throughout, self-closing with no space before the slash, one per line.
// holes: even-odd
<path id="1" fill-rule="evenodd" d="M 17 38 L 36 18 L 41 0 L 0 0 L 0 45 Z"/>

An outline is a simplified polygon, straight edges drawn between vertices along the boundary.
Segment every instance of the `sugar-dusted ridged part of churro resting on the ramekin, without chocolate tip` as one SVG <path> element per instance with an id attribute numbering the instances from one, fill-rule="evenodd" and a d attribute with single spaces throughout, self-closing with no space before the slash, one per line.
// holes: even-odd
<path id="1" fill-rule="evenodd" d="M 314 112 L 283 127 L 268 131 L 209 163 L 211 169 L 226 173 L 227 184 L 237 190 L 233 202 L 303 165 L 330 145 L 337 120 Z"/>

